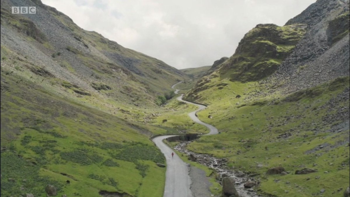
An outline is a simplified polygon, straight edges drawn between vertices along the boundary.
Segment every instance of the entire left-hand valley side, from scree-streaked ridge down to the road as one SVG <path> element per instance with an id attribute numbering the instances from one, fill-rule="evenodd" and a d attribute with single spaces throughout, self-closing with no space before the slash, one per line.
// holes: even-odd
<path id="1" fill-rule="evenodd" d="M 11 6 L 36 14 L 11 14 Z M 1 196 L 162 196 L 140 123 L 186 74 L 78 27 L 39 0 L 1 1 Z M 136 122 L 139 121 L 139 122 Z M 66 181 L 70 181 L 67 184 Z"/>

